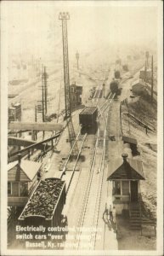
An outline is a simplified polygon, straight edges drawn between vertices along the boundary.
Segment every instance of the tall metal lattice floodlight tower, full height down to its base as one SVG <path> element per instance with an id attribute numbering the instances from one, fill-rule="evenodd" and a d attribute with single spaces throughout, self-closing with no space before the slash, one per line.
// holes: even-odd
<path id="1" fill-rule="evenodd" d="M 63 38 L 63 63 L 64 63 L 64 82 L 65 82 L 65 119 L 67 122 L 69 141 L 71 148 L 76 139 L 74 126 L 71 119 L 71 98 L 70 98 L 70 74 L 68 58 L 68 38 L 67 38 L 67 20 L 70 20 L 69 13 L 59 13 L 59 20 L 62 21 L 62 38 Z M 72 150 L 72 155 L 78 153 L 77 143 Z"/>

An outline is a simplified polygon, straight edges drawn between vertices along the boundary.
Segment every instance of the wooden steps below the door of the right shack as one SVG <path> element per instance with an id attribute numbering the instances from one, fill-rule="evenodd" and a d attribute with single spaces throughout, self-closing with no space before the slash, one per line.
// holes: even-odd
<path id="1" fill-rule="evenodd" d="M 139 203 L 133 203 L 130 205 L 130 229 L 141 229 L 141 217 L 139 211 Z"/>

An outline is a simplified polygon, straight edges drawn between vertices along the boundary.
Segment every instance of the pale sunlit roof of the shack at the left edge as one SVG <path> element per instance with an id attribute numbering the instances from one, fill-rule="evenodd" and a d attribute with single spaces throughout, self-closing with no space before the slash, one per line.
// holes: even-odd
<path id="1" fill-rule="evenodd" d="M 8 164 L 8 181 L 30 182 L 36 176 L 42 163 L 18 160 Z"/>

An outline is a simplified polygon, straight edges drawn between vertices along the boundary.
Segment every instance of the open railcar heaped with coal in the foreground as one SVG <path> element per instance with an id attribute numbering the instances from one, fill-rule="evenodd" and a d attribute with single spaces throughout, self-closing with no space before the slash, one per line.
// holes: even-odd
<path id="1" fill-rule="evenodd" d="M 20 225 L 60 225 L 65 198 L 65 181 L 54 177 L 41 180 L 20 214 Z"/>

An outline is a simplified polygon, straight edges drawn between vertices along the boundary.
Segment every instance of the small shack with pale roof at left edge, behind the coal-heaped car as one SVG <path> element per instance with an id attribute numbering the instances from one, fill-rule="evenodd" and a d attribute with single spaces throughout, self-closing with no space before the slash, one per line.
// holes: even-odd
<path id="1" fill-rule="evenodd" d="M 8 164 L 8 206 L 24 206 L 36 187 L 42 163 L 16 160 Z"/>

